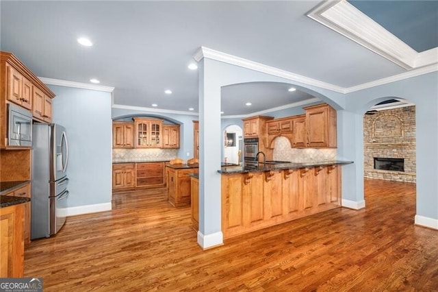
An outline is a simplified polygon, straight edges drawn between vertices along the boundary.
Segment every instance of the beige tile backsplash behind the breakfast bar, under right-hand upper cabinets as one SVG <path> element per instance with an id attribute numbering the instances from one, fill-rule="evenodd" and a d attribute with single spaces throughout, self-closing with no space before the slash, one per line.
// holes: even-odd
<path id="1" fill-rule="evenodd" d="M 337 160 L 336 148 L 291 148 L 286 137 L 279 136 L 274 140 L 274 160 L 290 162 L 312 162 Z"/>

